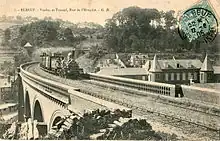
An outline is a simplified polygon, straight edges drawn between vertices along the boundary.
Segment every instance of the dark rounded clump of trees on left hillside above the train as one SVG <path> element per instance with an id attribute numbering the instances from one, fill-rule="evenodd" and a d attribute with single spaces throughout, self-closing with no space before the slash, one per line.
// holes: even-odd
<path id="1" fill-rule="evenodd" d="M 70 28 L 61 28 L 59 22 L 37 21 L 25 26 L 19 30 L 19 39 L 21 46 L 30 42 L 35 46 L 50 44 L 56 45 L 74 45 L 77 40 L 85 39 L 81 36 L 75 38 Z"/>

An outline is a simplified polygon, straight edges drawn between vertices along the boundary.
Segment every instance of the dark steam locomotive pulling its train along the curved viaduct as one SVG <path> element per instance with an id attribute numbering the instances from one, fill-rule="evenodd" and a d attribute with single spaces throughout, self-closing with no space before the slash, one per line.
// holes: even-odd
<path id="1" fill-rule="evenodd" d="M 69 79 L 86 78 L 88 76 L 75 61 L 75 50 L 68 53 L 66 58 L 61 53 L 43 53 L 40 57 L 40 67 L 49 73 Z"/>

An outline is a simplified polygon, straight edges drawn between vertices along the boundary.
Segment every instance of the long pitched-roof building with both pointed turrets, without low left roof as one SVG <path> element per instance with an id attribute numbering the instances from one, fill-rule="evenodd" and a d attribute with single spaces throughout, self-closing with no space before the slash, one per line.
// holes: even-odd
<path id="1" fill-rule="evenodd" d="M 203 62 L 198 59 L 170 59 L 147 61 L 144 68 L 148 70 L 148 81 L 171 84 L 189 84 L 190 80 L 195 83 L 218 82 L 211 61 L 206 55 Z M 218 68 L 218 67 L 215 67 Z"/>

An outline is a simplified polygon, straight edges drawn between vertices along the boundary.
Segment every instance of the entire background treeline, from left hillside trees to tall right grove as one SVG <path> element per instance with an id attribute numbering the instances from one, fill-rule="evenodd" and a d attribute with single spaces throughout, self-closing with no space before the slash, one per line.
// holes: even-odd
<path id="1" fill-rule="evenodd" d="M 172 10 L 164 12 L 128 7 L 108 19 L 104 28 L 95 23 L 73 24 L 45 17 L 45 20 L 21 26 L 13 43 L 18 46 L 23 46 L 26 42 L 34 46 L 75 46 L 87 36 L 101 33 L 100 36 L 97 35 L 97 39 L 104 38 L 105 46 L 115 52 L 216 52 L 218 42 L 207 48 L 206 44 L 201 45 L 198 41 L 182 40 L 174 14 Z M 11 34 L 10 29 L 4 31 L 6 45 L 12 42 Z"/>

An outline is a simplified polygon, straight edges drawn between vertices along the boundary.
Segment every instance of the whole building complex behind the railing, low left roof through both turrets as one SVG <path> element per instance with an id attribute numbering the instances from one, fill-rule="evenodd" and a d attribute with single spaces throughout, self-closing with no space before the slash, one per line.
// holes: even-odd
<path id="1" fill-rule="evenodd" d="M 170 84 L 220 82 L 220 67 L 212 66 L 208 55 L 203 62 L 199 59 L 148 60 L 142 68 L 103 68 L 98 74 L 126 77 Z"/>

